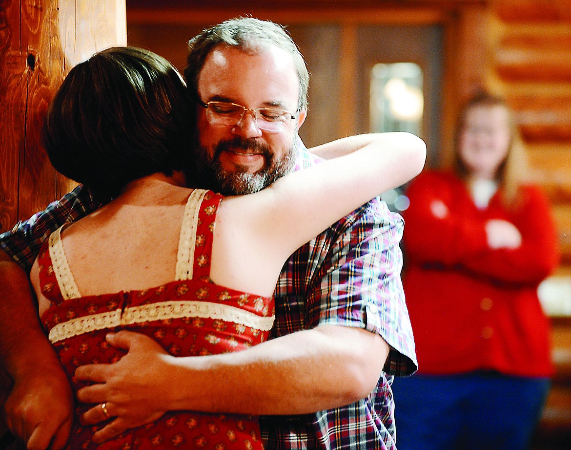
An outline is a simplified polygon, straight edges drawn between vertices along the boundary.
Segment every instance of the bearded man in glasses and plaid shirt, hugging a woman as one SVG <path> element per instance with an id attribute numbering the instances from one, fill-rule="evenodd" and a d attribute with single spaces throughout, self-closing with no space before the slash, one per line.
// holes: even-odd
<path id="1" fill-rule="evenodd" d="M 282 27 L 239 18 L 204 30 L 190 42 L 185 75 L 196 104 L 200 163 L 189 180 L 199 176 L 203 187 L 247 194 L 295 166 L 315 164 L 297 136 L 307 111 L 307 68 Z M 0 244 L 27 267 L 51 231 L 97 206 L 77 188 Z M 297 250 L 276 286 L 274 339 L 196 358 L 188 380 L 196 386 L 192 409 L 263 415 L 268 449 L 395 448 L 390 380 L 416 369 L 400 281 L 402 232 L 400 216 L 373 200 Z M 43 428 L 46 435 L 63 435 L 70 411 L 59 398 L 67 380 L 21 292 L 23 271 L 7 258 L 0 272 L 9 292 L 0 302 L 0 350 L 14 388 L 6 409 L 28 433 Z M 150 370 L 160 355 L 143 336 L 115 335 L 108 342 L 127 355 L 76 373 L 95 382 L 78 394 L 98 403 L 85 423 L 106 420 L 105 412 L 116 417 L 98 433 L 100 440 L 147 423 L 156 413 L 154 387 L 169 383 Z"/>

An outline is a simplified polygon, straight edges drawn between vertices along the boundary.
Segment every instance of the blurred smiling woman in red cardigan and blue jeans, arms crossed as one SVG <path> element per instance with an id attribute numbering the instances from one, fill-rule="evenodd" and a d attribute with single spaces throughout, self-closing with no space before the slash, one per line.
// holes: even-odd
<path id="1" fill-rule="evenodd" d="M 558 265 L 556 225 L 504 99 L 469 99 L 454 156 L 409 185 L 403 214 L 420 369 L 393 384 L 399 450 L 524 450 L 552 375 L 537 288 Z"/>

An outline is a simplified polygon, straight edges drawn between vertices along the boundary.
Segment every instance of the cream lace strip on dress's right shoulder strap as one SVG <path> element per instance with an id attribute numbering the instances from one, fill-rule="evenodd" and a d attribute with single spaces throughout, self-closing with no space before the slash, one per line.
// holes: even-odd
<path id="1" fill-rule="evenodd" d="M 206 193 L 207 191 L 204 189 L 195 189 L 190 193 L 186 202 L 182 226 L 180 227 L 178 254 L 176 255 L 176 281 L 190 280 L 192 278 L 198 213 Z"/>

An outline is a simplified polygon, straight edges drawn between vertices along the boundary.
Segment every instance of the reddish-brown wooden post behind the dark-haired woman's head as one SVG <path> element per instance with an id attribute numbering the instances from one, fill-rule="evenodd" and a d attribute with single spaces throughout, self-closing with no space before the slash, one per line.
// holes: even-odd
<path id="1" fill-rule="evenodd" d="M 41 145 L 47 106 L 67 72 L 127 44 L 125 0 L 0 0 L 0 232 L 74 183 Z"/>

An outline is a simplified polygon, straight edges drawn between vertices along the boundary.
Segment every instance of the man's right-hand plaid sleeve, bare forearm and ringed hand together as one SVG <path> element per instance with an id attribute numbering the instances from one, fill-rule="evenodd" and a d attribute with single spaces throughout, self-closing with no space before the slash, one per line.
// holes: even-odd
<path id="1" fill-rule="evenodd" d="M 275 339 L 242 352 L 186 361 L 174 361 L 148 337 L 128 332 L 112 335 L 110 343 L 128 349 L 127 355 L 115 364 L 76 371 L 79 380 L 100 383 L 83 388 L 78 399 L 106 401 L 110 415 L 119 416 L 95 439 L 110 439 L 172 408 L 256 415 L 336 408 L 367 397 L 385 361 L 387 372 L 412 373 L 416 369 L 412 331 L 400 284 L 402 220 L 387 214 L 385 205 L 370 210 L 364 224 L 352 226 L 349 221 L 332 231 L 342 237 L 332 238 L 335 244 L 330 252 L 335 258 L 327 254 L 323 256 L 327 264 L 316 265 L 320 269 L 315 278 L 323 280 L 304 300 L 303 309 L 309 315 L 303 327 L 276 320 L 279 337 Z M 359 221 L 361 212 L 354 216 Z M 321 254 L 322 250 L 330 253 L 323 248 L 310 252 Z M 353 281 L 345 281 L 347 277 Z M 284 293 L 278 290 L 278 294 Z M 292 301 L 285 293 L 279 304 L 296 309 Z M 278 312 L 276 301 L 276 318 L 283 316 L 283 311 Z M 299 328 L 306 329 L 296 331 Z M 388 360 L 384 336 L 391 343 Z M 171 392 L 173 386 L 178 392 Z M 83 419 L 92 424 L 106 417 L 98 405 Z"/>

